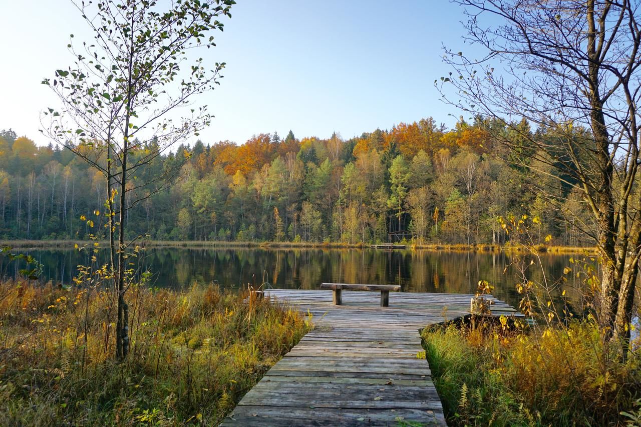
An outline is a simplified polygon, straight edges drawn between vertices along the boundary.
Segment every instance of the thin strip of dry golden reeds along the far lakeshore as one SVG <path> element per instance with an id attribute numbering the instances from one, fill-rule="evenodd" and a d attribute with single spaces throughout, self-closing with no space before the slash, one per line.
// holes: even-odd
<path id="1" fill-rule="evenodd" d="M 79 247 L 93 246 L 90 240 L 0 240 L 0 247 L 10 246 L 14 249 L 72 249 Z M 108 246 L 106 240 L 99 242 L 103 247 Z M 595 254 L 595 247 L 581 246 L 552 246 L 524 244 L 508 244 L 504 246 L 492 244 L 419 244 L 417 242 L 397 242 L 397 245 L 405 246 L 402 250 L 424 250 L 444 252 L 519 252 L 519 253 L 554 253 L 554 254 Z M 346 243 L 346 242 L 228 242 L 224 240 L 138 240 L 132 246 L 143 247 L 183 247 L 183 248 L 238 248 L 238 249 L 367 249 L 371 245 L 367 243 Z M 390 249 L 377 249 L 390 250 Z M 398 250 L 398 249 L 392 249 Z"/>

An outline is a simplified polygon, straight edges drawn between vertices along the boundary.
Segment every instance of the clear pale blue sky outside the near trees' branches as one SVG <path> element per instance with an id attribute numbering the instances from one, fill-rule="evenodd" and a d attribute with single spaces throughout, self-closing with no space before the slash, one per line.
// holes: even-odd
<path id="1" fill-rule="evenodd" d="M 205 143 L 290 129 L 346 139 L 428 116 L 453 126 L 448 113 L 460 114 L 433 86 L 450 71 L 442 44 L 462 50 L 462 10 L 447 0 L 238 0 L 232 15 L 203 51 L 228 64 L 198 103 L 215 115 Z M 2 1 L 0 16 L 0 129 L 47 144 L 40 112 L 55 99 L 40 81 L 72 63 L 69 33 L 91 34 L 65 0 Z"/>

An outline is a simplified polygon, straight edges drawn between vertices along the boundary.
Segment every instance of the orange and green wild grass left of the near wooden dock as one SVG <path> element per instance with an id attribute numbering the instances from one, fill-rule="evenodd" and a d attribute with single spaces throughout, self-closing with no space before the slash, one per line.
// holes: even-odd
<path id="1" fill-rule="evenodd" d="M 218 424 L 310 328 L 218 287 L 129 290 L 113 360 L 113 292 L 0 283 L 0 425 Z"/>

